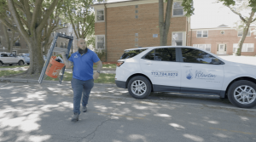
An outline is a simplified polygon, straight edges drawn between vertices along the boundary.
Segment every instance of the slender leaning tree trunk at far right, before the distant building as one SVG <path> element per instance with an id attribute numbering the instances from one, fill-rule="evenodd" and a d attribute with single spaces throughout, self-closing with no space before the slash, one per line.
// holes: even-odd
<path id="1" fill-rule="evenodd" d="M 252 23 L 254 14 L 255 14 L 255 12 L 252 11 L 252 13 L 251 13 L 249 19 L 247 20 L 246 26 L 245 26 L 244 29 L 243 29 L 241 39 L 240 39 L 240 41 L 238 42 L 238 47 L 239 47 L 239 48 L 237 48 L 237 51 L 236 51 L 236 55 L 237 55 L 237 56 L 241 56 L 242 44 L 244 43 L 245 38 L 247 37 L 247 32 L 248 32 L 249 27 L 250 27 L 250 25 L 251 25 L 251 23 Z"/>

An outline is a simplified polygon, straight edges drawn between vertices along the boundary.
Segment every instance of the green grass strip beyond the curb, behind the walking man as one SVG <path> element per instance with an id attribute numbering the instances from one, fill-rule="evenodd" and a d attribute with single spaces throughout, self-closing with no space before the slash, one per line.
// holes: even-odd
<path id="1" fill-rule="evenodd" d="M 3 76 L 10 76 L 10 75 L 15 75 L 19 74 L 24 71 L 0 71 L 0 77 Z M 63 81 L 70 82 L 72 79 L 73 73 L 70 72 L 65 72 Z M 96 83 L 114 83 L 114 77 L 115 74 L 107 74 L 107 73 L 102 73 L 98 79 L 96 79 L 94 82 Z M 46 77 L 45 80 L 49 81 L 58 81 L 58 78 L 51 78 L 51 77 Z"/>

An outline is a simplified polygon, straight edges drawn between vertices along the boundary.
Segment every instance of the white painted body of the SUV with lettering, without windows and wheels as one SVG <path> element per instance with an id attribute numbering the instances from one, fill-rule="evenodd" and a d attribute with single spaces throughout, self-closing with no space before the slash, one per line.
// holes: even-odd
<path id="1" fill-rule="evenodd" d="M 176 61 L 145 60 L 143 57 L 155 48 L 176 48 Z M 147 77 L 154 92 L 179 92 L 192 94 L 217 94 L 224 98 L 232 82 L 248 80 L 256 82 L 256 65 L 230 62 L 217 55 L 201 50 L 222 61 L 222 64 L 197 64 L 183 62 L 182 48 L 194 47 L 149 47 L 136 56 L 118 60 L 124 62 L 116 69 L 116 85 L 128 88 L 131 77 Z M 127 51 L 126 50 L 126 51 Z M 164 73 L 164 74 L 163 74 Z M 161 76 L 163 75 L 163 76 Z M 174 75 L 174 76 L 173 76 Z"/>

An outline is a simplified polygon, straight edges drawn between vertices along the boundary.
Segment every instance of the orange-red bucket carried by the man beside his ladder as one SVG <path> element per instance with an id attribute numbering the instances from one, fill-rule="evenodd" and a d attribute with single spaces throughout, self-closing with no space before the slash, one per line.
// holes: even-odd
<path id="1" fill-rule="evenodd" d="M 57 78 L 62 70 L 62 68 L 65 66 L 63 63 L 59 63 L 55 61 L 56 56 L 52 56 L 49 60 L 49 65 L 47 66 L 47 69 L 45 71 L 45 74 L 52 78 Z"/>

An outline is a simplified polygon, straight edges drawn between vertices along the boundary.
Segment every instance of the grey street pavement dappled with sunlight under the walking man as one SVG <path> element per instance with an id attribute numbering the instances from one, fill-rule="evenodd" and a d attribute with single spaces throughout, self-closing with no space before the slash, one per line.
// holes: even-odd
<path id="1" fill-rule="evenodd" d="M 88 111 L 73 116 L 70 82 L 0 82 L 1 142 L 253 142 L 256 107 L 240 109 L 214 95 L 153 93 L 95 84 Z"/>

